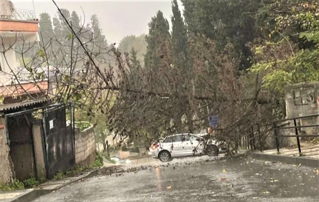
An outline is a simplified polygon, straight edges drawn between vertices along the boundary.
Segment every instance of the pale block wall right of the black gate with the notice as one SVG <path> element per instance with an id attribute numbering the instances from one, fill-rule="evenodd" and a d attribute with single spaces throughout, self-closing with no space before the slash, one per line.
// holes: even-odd
<path id="1" fill-rule="evenodd" d="M 75 129 L 75 163 L 88 166 L 95 161 L 95 140 L 93 126 L 80 131 Z"/>

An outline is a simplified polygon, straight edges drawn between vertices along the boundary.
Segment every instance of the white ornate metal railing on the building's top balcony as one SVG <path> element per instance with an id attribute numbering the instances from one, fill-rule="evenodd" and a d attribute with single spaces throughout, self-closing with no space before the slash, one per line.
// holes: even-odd
<path id="1" fill-rule="evenodd" d="M 34 10 L 16 8 L 0 8 L 1 19 L 36 21 Z"/>

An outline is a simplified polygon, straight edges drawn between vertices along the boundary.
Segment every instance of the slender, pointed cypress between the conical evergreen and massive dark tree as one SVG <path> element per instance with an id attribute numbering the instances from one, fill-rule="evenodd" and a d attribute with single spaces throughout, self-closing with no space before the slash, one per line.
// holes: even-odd
<path id="1" fill-rule="evenodd" d="M 172 11 L 172 60 L 181 71 L 187 71 L 187 30 L 177 0 L 172 2 Z"/>

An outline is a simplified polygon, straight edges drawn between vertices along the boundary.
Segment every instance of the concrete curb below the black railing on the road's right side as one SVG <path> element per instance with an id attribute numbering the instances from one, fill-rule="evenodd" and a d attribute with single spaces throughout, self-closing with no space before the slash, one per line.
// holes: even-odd
<path id="1" fill-rule="evenodd" d="M 311 158 L 311 157 L 291 157 L 291 156 L 283 156 L 278 154 L 264 154 L 260 152 L 253 152 L 250 154 L 250 157 L 273 161 L 273 162 L 282 162 L 286 164 L 296 164 L 296 165 L 304 165 L 312 168 L 319 168 L 319 158 Z"/>

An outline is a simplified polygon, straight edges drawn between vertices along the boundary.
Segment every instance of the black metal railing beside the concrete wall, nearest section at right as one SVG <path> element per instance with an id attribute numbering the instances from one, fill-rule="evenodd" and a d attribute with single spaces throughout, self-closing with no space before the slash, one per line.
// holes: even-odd
<path id="1" fill-rule="evenodd" d="M 299 117 L 295 117 L 295 118 L 290 118 L 290 119 L 281 119 L 281 120 L 276 120 L 273 122 L 273 130 L 274 130 L 274 134 L 275 134 L 275 139 L 276 139 L 276 145 L 277 145 L 277 151 L 279 153 L 279 147 L 280 147 L 280 142 L 279 142 L 279 138 L 280 137 L 296 137 L 297 139 L 297 145 L 298 145 L 298 150 L 299 150 L 299 156 L 302 156 L 301 153 L 301 147 L 300 147 L 300 137 L 319 137 L 319 135 L 299 135 L 299 131 L 298 129 L 301 128 L 310 128 L 310 127 L 319 127 L 319 124 L 310 124 L 310 125 L 297 125 L 296 120 L 302 120 L 305 118 L 312 118 L 312 117 L 319 117 L 319 114 L 313 114 L 313 115 L 307 115 L 307 116 L 299 116 Z M 293 125 L 294 126 L 284 126 L 284 127 L 277 127 L 279 122 L 285 122 L 285 121 L 293 121 Z M 294 133 L 295 135 L 278 135 L 278 130 L 284 130 L 284 129 L 294 129 Z"/>

